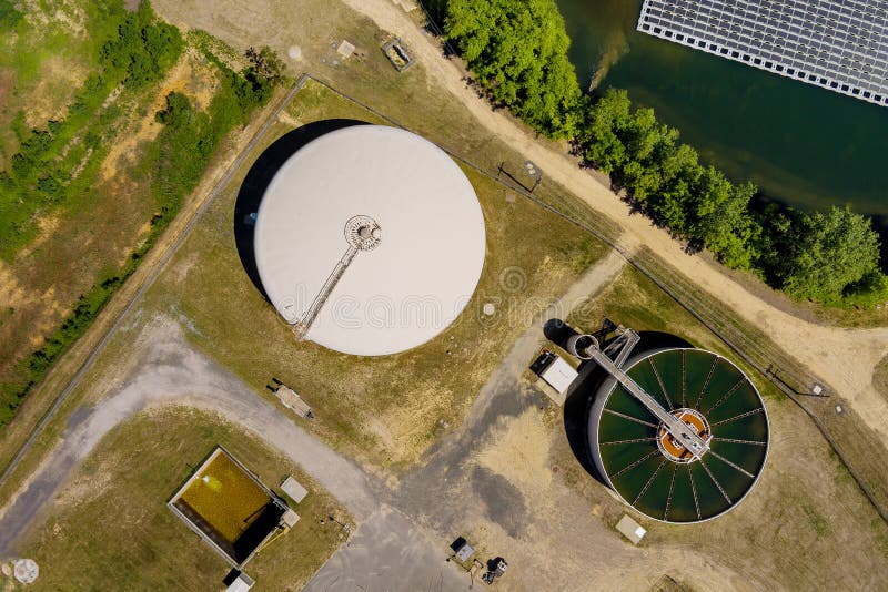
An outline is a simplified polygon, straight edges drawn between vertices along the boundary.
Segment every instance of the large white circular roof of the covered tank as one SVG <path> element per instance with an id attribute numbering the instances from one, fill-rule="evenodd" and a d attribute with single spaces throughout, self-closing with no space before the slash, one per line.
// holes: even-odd
<path id="1" fill-rule="evenodd" d="M 314 308 L 304 337 L 345 354 L 395 354 L 444 330 L 468 304 L 484 253 L 468 180 L 397 127 L 356 125 L 306 144 L 278 171 L 256 218 L 272 304 L 293 325 Z"/>

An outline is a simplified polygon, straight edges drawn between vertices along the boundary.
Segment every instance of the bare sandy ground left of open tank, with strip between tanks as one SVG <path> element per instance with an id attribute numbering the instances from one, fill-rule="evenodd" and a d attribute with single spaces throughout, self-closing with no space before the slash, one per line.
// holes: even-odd
<path id="1" fill-rule="evenodd" d="M 442 539 L 465 535 L 490 557 L 506 555 L 509 572 L 497 583 L 505 590 L 643 590 L 667 572 L 683 581 L 693 573 L 704 589 L 766 590 L 764 582 L 713 562 L 705 549 L 632 547 L 589 511 L 587 500 L 553 478 L 557 432 L 541 419 L 537 407 L 547 404 L 539 391 L 521 376 L 545 340 L 545 321 L 597 294 L 624 265 L 612 253 L 539 315 L 491 376 L 466 422 L 427 465 L 402 479 L 391 503 Z"/>

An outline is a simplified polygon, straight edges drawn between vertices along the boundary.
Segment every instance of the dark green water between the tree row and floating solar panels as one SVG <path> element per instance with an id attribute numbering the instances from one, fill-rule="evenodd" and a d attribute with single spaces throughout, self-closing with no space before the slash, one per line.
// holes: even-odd
<path id="1" fill-rule="evenodd" d="M 888 108 L 639 33 L 640 0 L 556 2 L 584 88 L 597 72 L 598 90 L 627 89 L 768 198 L 888 217 Z"/>

